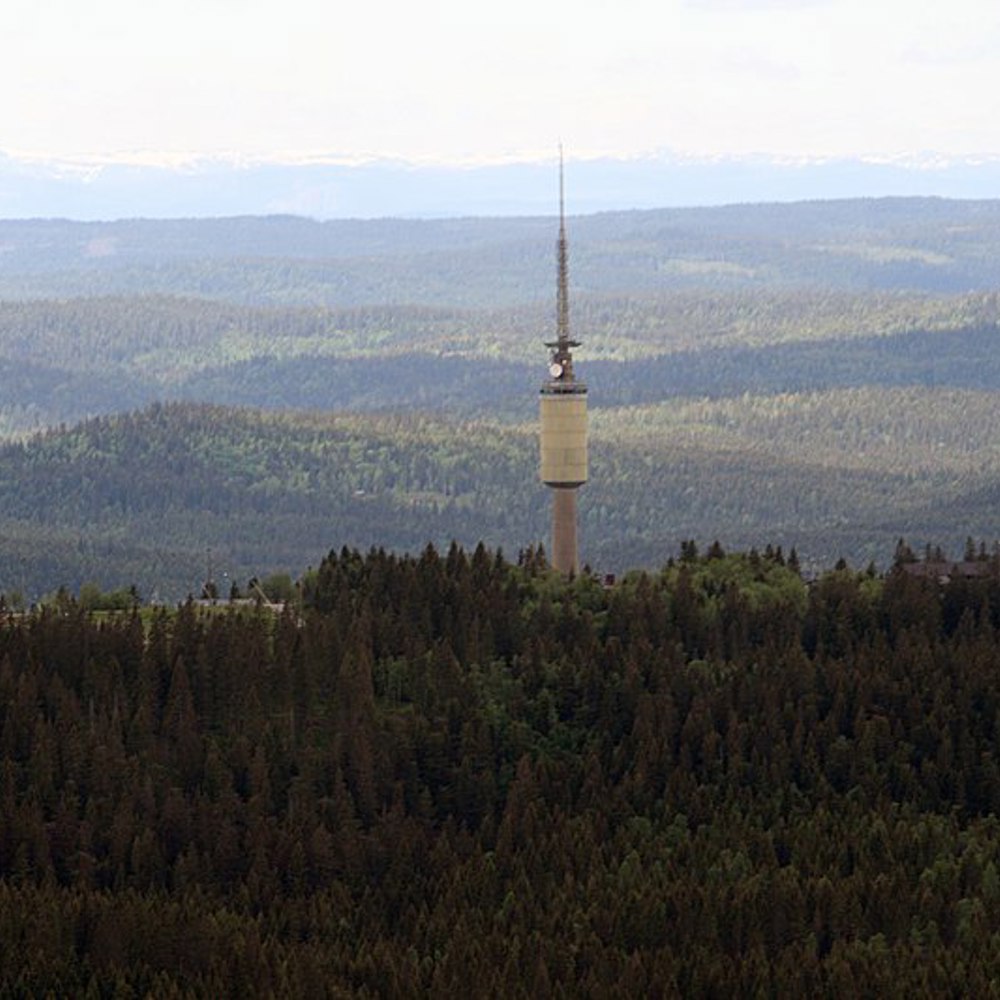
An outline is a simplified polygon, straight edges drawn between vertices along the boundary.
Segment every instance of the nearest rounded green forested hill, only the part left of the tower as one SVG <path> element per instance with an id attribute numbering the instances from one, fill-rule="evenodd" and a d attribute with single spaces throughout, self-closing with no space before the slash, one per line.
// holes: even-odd
<path id="1" fill-rule="evenodd" d="M 523 432 L 411 415 L 153 406 L 0 449 L 8 587 L 136 583 L 146 597 L 300 574 L 332 546 L 535 539 Z M 502 538 L 501 538 L 502 536 Z M 48 582 L 45 582 L 48 581 Z"/>

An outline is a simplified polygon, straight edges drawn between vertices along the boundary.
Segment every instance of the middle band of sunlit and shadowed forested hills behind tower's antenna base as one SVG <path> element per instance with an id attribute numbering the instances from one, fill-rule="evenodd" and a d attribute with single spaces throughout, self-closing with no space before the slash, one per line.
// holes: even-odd
<path id="1" fill-rule="evenodd" d="M 582 296 L 573 322 L 598 408 L 860 387 L 1000 389 L 995 294 Z M 551 323 L 548 305 L 0 302 L 0 437 L 168 400 L 525 421 Z"/>

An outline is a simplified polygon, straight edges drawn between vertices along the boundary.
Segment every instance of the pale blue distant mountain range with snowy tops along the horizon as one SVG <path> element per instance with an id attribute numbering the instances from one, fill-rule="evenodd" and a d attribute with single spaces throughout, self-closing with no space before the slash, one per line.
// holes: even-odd
<path id="1" fill-rule="evenodd" d="M 990 198 L 1000 158 L 687 159 L 568 164 L 572 210 L 828 198 Z M 551 215 L 552 163 L 483 166 L 198 160 L 183 166 L 25 161 L 0 155 L 0 218 L 200 218 L 290 213 L 318 219 Z"/>

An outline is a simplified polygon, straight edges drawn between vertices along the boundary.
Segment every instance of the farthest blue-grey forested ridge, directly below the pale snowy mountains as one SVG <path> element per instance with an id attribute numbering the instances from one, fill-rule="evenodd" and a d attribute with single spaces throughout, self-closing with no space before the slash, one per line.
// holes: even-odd
<path id="1" fill-rule="evenodd" d="M 553 206 L 554 207 L 554 206 Z M 991 289 L 994 201 L 885 198 L 570 219 L 588 293 Z M 0 222 L 0 295 L 161 292 L 244 303 L 494 307 L 547 301 L 550 218 Z"/>

